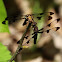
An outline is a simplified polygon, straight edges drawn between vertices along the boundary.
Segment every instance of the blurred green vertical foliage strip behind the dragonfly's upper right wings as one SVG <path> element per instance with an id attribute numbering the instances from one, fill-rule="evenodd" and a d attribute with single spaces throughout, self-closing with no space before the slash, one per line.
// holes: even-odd
<path id="1" fill-rule="evenodd" d="M 35 4 L 33 6 L 33 13 L 34 14 L 35 13 L 42 13 L 43 12 L 43 8 L 40 7 L 40 4 L 39 3 L 40 2 L 38 0 L 35 1 Z M 43 27 L 44 20 L 45 20 L 44 18 L 45 17 L 43 15 L 43 17 L 41 18 L 41 20 L 37 20 L 37 27 L 38 27 L 38 29 L 41 29 Z M 39 40 L 39 36 L 40 36 L 40 34 L 38 34 L 37 40 Z"/>

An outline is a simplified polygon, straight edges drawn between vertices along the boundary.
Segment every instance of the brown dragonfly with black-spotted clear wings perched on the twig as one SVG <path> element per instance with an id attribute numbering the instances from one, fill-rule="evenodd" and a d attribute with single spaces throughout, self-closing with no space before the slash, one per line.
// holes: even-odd
<path id="1" fill-rule="evenodd" d="M 51 20 L 52 19 L 51 15 L 53 15 L 54 13 L 53 12 L 46 12 L 46 13 L 49 13 L 50 16 L 48 16 L 48 20 Z M 23 18 L 19 18 L 19 19 L 24 19 L 25 20 L 24 23 L 23 23 L 23 26 L 26 25 L 27 23 L 29 23 L 29 21 L 32 23 L 32 27 L 33 27 L 34 33 L 32 33 L 33 36 L 31 38 L 34 38 L 34 44 L 36 44 L 38 33 L 44 33 L 44 32 L 49 33 L 50 30 L 52 30 L 52 29 L 55 29 L 55 31 L 57 31 L 57 30 L 60 29 L 60 27 L 54 27 L 52 29 L 44 30 L 46 27 L 51 27 L 52 23 L 54 23 L 54 22 L 58 23 L 60 21 L 60 18 L 58 18 L 58 19 L 53 20 L 52 22 L 50 22 L 44 28 L 41 28 L 41 29 L 38 30 L 38 27 L 36 26 L 37 23 L 34 21 L 34 17 L 36 16 L 36 18 L 38 20 L 41 20 L 41 18 L 42 18 L 42 16 L 44 14 L 45 13 L 27 14 L 27 15 L 22 15 L 22 16 L 24 16 Z M 6 20 L 8 20 L 9 18 L 12 18 L 12 17 L 5 18 L 5 20 L 2 22 L 2 24 L 5 24 L 6 23 Z M 26 39 L 28 39 L 28 37 L 29 36 L 25 36 Z M 30 39 L 25 44 L 28 44 L 30 42 Z M 20 42 L 20 40 L 17 43 L 19 43 L 19 42 Z"/>

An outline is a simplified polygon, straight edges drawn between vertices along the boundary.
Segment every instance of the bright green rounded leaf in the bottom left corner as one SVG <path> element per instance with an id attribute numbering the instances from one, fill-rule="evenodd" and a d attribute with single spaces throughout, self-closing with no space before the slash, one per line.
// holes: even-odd
<path id="1" fill-rule="evenodd" d="M 0 62 L 8 62 L 8 60 L 11 58 L 10 52 L 0 43 Z"/>

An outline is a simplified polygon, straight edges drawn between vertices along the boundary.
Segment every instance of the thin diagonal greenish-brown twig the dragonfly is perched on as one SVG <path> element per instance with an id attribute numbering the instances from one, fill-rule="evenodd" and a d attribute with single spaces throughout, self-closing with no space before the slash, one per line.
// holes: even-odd
<path id="1" fill-rule="evenodd" d="M 20 48 L 22 47 L 22 43 L 23 43 L 24 37 L 25 37 L 25 35 L 26 35 L 26 33 L 27 33 L 27 31 L 28 31 L 28 29 L 30 27 L 31 27 L 31 22 L 29 21 L 29 24 L 28 24 L 28 26 L 27 26 L 27 28 L 26 28 L 26 30 L 25 30 L 25 32 L 24 32 L 24 34 L 23 34 L 23 36 L 22 36 L 22 38 L 20 40 L 20 44 L 19 44 L 16 52 L 14 53 L 14 55 L 12 56 L 12 58 L 8 62 L 12 62 L 15 59 L 15 57 L 17 56 L 17 54 L 19 53 Z"/>

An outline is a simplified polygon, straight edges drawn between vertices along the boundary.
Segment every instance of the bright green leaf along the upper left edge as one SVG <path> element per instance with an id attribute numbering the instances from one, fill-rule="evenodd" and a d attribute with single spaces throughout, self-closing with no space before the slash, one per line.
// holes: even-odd
<path id="1" fill-rule="evenodd" d="M 2 24 L 2 22 L 5 20 L 6 17 L 7 17 L 7 14 L 6 14 L 3 0 L 0 0 L 0 33 L 1 32 L 9 32 L 8 21 L 6 22 L 6 25 Z"/>

